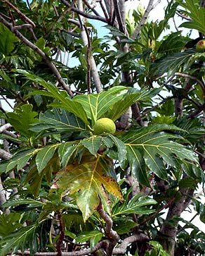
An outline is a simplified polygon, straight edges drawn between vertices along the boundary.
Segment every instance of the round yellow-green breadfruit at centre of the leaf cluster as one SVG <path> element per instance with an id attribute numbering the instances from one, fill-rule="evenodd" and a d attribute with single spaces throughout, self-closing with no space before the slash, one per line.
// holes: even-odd
<path id="1" fill-rule="evenodd" d="M 94 133 L 95 135 L 100 135 L 103 133 L 115 133 L 116 127 L 114 121 L 110 118 L 100 118 L 94 124 Z"/>

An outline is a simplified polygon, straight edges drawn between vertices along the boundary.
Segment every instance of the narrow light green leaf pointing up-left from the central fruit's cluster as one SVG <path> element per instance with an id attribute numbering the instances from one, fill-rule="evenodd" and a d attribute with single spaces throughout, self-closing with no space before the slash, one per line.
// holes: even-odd
<path id="1" fill-rule="evenodd" d="M 39 83 L 40 85 L 44 86 L 46 90 L 50 93 L 46 93 L 47 96 L 53 97 L 54 99 L 58 99 L 60 103 L 53 103 L 53 106 L 57 106 L 61 109 L 66 109 L 67 111 L 73 113 L 75 116 L 78 116 L 81 118 L 86 125 L 89 125 L 88 118 L 86 116 L 86 112 L 84 111 L 84 108 L 79 104 L 79 102 L 74 102 L 72 99 L 70 99 L 70 96 L 67 95 L 67 92 L 60 91 L 58 87 L 55 87 L 55 85 L 52 85 L 51 83 L 47 83 L 44 79 L 40 78 L 37 75 L 32 75 L 28 73 L 27 71 L 18 70 L 19 73 L 24 74 L 29 78 L 30 80 Z M 33 92 L 34 93 L 34 92 Z"/>

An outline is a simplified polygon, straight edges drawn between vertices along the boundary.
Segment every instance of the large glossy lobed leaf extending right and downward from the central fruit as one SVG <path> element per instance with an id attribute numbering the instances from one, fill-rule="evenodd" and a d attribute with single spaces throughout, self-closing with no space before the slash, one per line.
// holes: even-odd
<path id="1" fill-rule="evenodd" d="M 163 130 L 176 130 L 175 126 L 152 125 L 138 130 L 131 130 L 121 137 L 127 146 L 127 159 L 131 171 L 139 178 L 140 183 L 147 185 L 146 166 L 160 178 L 167 180 L 167 172 L 164 162 L 170 166 L 178 165 L 176 158 L 194 161 L 197 164 L 197 156 L 188 147 L 180 145 L 174 140 L 178 139 L 173 133 Z M 180 129 L 178 129 L 180 130 Z"/>

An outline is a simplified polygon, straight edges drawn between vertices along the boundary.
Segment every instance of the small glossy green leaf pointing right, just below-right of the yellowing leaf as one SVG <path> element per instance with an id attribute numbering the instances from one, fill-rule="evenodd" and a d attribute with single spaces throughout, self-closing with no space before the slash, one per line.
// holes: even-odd
<path id="1" fill-rule="evenodd" d="M 138 193 L 131 200 L 125 200 L 122 204 L 118 203 L 112 209 L 112 217 L 125 214 L 150 214 L 153 209 L 147 208 L 147 205 L 155 205 L 157 202 L 150 197 L 143 196 Z"/>

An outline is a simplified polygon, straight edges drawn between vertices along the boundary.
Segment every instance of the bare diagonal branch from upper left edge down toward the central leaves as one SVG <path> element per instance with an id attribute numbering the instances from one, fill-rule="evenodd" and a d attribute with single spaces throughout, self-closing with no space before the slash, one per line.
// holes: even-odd
<path id="1" fill-rule="evenodd" d="M 46 56 L 44 51 L 39 49 L 39 47 L 37 47 L 35 44 L 30 42 L 26 37 L 24 37 L 18 30 L 15 29 L 15 27 L 11 23 L 8 23 L 1 15 L 0 15 L 0 22 L 4 23 L 4 25 L 6 25 L 6 27 L 9 30 L 11 30 L 11 32 L 13 32 L 13 34 L 15 34 L 24 44 L 26 44 L 29 48 L 33 49 L 35 52 L 37 52 L 37 54 L 39 54 L 39 56 L 41 56 L 42 59 L 44 59 L 46 64 L 49 66 L 49 68 L 51 68 L 51 71 L 53 71 L 53 73 L 55 74 L 55 77 L 58 80 L 58 82 L 60 83 L 60 85 L 62 85 L 62 87 L 72 97 L 73 94 L 72 94 L 72 91 L 70 90 L 70 87 L 68 85 L 66 85 L 66 83 L 62 79 L 62 76 L 60 75 L 58 69 L 55 67 L 53 62 L 50 59 L 48 59 L 48 56 Z"/>

